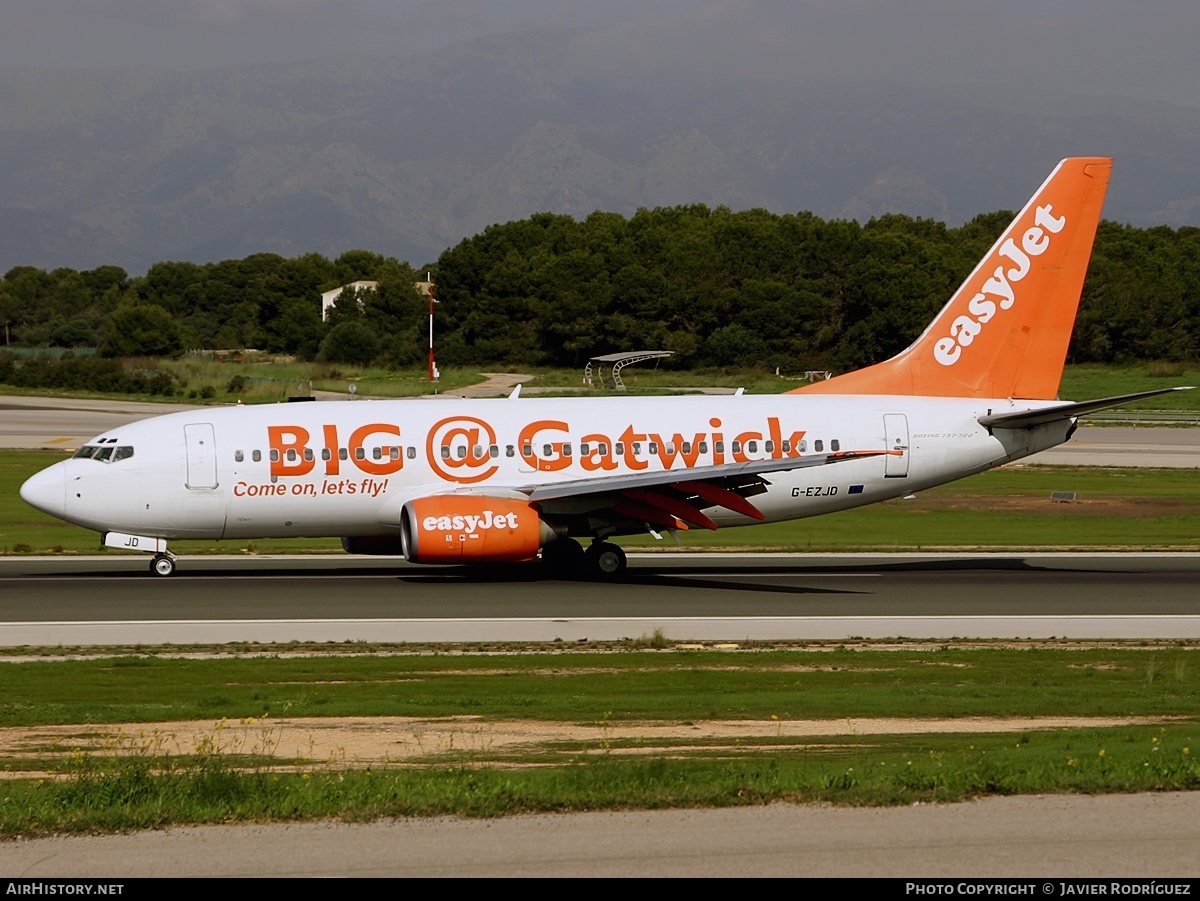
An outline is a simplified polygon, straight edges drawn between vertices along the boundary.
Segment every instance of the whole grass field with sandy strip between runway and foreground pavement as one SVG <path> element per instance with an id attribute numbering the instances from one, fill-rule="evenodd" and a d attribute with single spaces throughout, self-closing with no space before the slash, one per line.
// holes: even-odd
<path id="1" fill-rule="evenodd" d="M 394 650 L 2 663 L 0 835 L 1200 788 L 1189 647 Z"/>

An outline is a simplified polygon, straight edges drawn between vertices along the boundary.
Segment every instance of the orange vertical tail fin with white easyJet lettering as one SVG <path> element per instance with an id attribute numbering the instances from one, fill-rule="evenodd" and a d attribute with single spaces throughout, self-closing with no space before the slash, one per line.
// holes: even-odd
<path id="1" fill-rule="evenodd" d="M 788 394 L 1054 400 L 1111 169 L 1063 160 L 907 350 Z"/>

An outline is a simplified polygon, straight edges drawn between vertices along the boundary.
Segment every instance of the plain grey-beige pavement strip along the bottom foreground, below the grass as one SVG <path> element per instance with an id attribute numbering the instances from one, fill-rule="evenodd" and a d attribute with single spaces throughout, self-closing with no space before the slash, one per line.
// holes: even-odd
<path id="1" fill-rule="evenodd" d="M 1088 879 L 1075 893 L 1100 894 L 1110 888 L 1100 877 L 1140 877 L 1111 894 L 1175 895 L 1200 871 L 1198 842 L 1200 792 L 1172 792 L 161 829 L 0 842 L 0 871 L 114 881 L 857 876 L 896 879 L 871 885 L 896 896 L 918 894 L 900 878 L 934 894 L 922 879 L 1008 877 L 1012 885 L 950 884 L 937 894 L 1036 897 L 1058 897 L 1057 879 Z"/>

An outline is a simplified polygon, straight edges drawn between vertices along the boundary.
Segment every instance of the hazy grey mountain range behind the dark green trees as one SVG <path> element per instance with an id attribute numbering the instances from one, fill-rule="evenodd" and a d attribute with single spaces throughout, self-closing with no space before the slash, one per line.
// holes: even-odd
<path id="1" fill-rule="evenodd" d="M 0 272 L 350 248 L 420 266 L 550 210 L 707 204 L 959 224 L 1062 157 L 1106 218 L 1200 226 L 1200 110 L 986 85 L 704 76 L 570 35 L 200 71 L 0 66 Z"/>

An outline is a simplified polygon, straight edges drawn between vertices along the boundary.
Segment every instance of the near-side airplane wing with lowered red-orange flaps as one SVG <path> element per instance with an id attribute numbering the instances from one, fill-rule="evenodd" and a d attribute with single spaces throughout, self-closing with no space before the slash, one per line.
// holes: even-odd
<path id="1" fill-rule="evenodd" d="M 902 453 L 902 451 L 806 453 L 781 459 L 623 473 L 553 485 L 515 487 L 530 501 L 551 506 L 563 506 L 565 503 L 580 515 L 608 519 L 618 528 L 622 523 L 631 521 L 668 529 L 686 529 L 689 523 L 715 529 L 716 523 L 702 512 L 706 507 L 722 506 L 755 519 L 763 518 L 762 512 L 746 498 L 764 491 L 764 486 L 769 483 L 764 476 L 770 473 L 808 469 L 888 453 Z"/>

